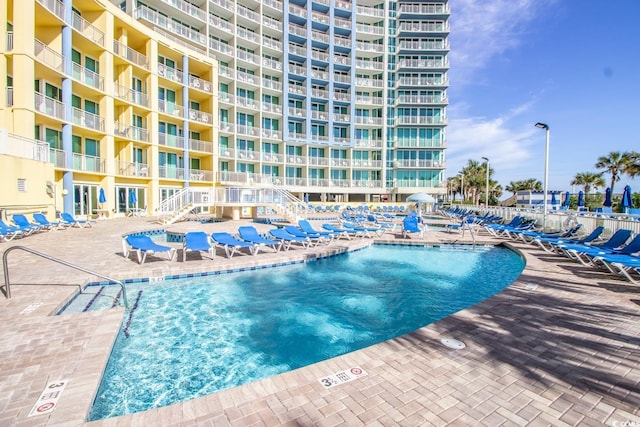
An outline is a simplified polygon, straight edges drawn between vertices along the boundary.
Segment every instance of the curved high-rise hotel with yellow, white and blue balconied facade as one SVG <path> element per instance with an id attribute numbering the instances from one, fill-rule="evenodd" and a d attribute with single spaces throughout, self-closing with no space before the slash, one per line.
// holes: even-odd
<path id="1" fill-rule="evenodd" d="M 0 209 L 443 194 L 447 0 L 5 0 Z M 105 212 L 108 211 L 108 212 Z"/>

